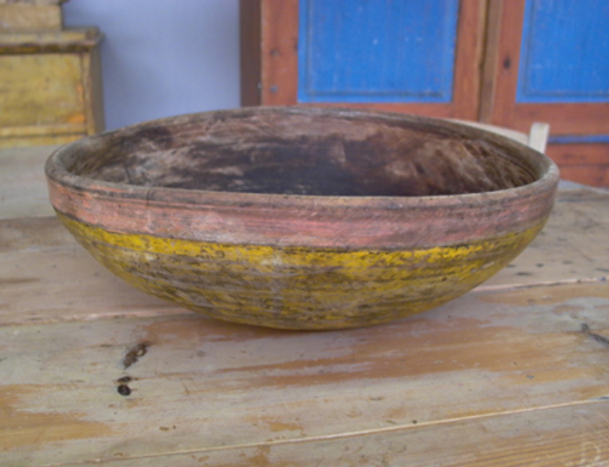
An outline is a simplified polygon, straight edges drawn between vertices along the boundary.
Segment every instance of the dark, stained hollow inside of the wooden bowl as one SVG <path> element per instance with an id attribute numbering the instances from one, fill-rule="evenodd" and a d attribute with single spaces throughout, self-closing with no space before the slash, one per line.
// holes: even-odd
<path id="1" fill-rule="evenodd" d="M 201 116 L 106 133 L 66 168 L 143 187 L 348 197 L 496 191 L 543 172 L 516 143 L 424 118 L 313 109 Z"/>

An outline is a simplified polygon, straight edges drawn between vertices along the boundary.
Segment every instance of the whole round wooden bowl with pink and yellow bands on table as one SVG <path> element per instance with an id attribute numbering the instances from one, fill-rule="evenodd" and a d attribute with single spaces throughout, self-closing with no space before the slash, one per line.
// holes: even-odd
<path id="1" fill-rule="evenodd" d="M 558 181 L 548 157 L 469 126 L 298 107 L 102 133 L 55 151 L 46 175 L 60 220 L 133 286 L 291 329 L 466 293 L 540 232 Z"/>

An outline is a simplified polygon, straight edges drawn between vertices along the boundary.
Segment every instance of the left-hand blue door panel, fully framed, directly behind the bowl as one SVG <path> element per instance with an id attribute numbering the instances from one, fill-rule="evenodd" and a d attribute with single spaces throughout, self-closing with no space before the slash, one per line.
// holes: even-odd
<path id="1" fill-rule="evenodd" d="M 300 0 L 300 102 L 450 102 L 459 0 Z"/>

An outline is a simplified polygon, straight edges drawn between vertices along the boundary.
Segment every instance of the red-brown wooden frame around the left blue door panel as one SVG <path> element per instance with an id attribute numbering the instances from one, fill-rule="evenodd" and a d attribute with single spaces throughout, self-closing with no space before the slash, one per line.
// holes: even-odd
<path id="1" fill-rule="evenodd" d="M 241 0 L 243 105 L 298 103 L 298 0 Z M 486 0 L 461 0 L 450 103 L 312 104 L 477 120 Z"/>

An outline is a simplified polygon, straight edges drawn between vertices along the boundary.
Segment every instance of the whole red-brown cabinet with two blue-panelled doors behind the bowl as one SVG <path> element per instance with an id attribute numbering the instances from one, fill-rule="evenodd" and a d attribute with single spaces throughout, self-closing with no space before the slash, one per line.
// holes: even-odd
<path id="1" fill-rule="evenodd" d="M 244 105 L 384 109 L 527 131 L 609 185 L 606 0 L 242 0 Z"/>

